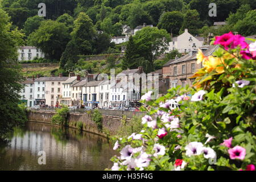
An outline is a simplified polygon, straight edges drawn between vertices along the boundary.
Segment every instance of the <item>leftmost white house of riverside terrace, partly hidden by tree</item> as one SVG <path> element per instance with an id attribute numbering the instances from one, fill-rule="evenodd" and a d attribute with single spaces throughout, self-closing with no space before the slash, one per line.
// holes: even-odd
<path id="1" fill-rule="evenodd" d="M 32 107 L 34 106 L 34 78 L 27 78 L 22 84 L 24 88 L 19 93 L 20 100 L 26 103 L 27 107 Z"/>

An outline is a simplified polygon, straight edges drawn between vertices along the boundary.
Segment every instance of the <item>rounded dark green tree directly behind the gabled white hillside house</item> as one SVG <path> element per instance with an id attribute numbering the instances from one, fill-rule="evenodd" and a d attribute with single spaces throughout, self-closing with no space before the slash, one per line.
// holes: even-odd
<path id="1" fill-rule="evenodd" d="M 167 32 L 179 35 L 179 30 L 183 23 L 183 15 L 180 11 L 164 13 L 158 23 L 158 28 L 163 28 Z"/>

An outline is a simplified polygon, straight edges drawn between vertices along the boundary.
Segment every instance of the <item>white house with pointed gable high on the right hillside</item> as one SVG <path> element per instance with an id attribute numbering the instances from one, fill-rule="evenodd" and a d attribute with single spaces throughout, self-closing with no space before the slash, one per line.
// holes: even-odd
<path id="1" fill-rule="evenodd" d="M 185 29 L 184 33 L 173 37 L 172 42 L 169 43 L 169 47 L 166 53 L 175 49 L 180 53 L 187 53 L 190 51 L 196 51 L 199 47 L 204 45 L 204 38 L 200 36 L 193 36 L 189 34 L 188 29 Z"/>

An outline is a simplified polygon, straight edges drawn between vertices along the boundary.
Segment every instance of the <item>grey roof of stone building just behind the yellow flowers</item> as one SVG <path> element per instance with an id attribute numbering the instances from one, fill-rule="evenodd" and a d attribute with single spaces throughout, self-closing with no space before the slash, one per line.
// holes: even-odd
<path id="1" fill-rule="evenodd" d="M 204 55 L 205 56 L 210 56 L 212 55 L 212 53 L 218 48 L 219 46 L 208 46 L 208 49 L 206 51 L 203 51 L 204 52 Z M 205 48 L 205 46 L 204 46 Z M 196 53 L 192 53 L 191 54 L 187 54 L 183 57 L 180 57 L 179 59 L 173 61 L 172 63 L 170 64 L 177 64 L 177 63 L 182 63 L 182 62 L 185 62 L 185 61 L 191 61 L 191 60 L 195 60 L 196 59 Z"/>

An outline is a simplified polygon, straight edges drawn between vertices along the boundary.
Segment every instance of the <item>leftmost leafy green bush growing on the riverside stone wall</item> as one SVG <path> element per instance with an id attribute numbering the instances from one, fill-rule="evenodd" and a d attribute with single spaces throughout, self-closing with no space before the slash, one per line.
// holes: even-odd
<path id="1" fill-rule="evenodd" d="M 56 114 L 52 117 L 52 123 L 67 126 L 68 125 L 68 106 L 62 106 L 61 109 L 56 109 Z"/>

